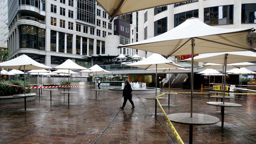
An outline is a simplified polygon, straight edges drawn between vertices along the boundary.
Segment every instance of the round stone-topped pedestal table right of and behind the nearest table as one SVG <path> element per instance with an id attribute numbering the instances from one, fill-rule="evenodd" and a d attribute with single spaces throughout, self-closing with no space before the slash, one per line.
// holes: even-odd
<path id="1" fill-rule="evenodd" d="M 226 98 L 226 96 L 225 96 Z M 224 108 L 225 107 L 241 107 L 242 105 L 238 103 L 229 103 L 229 102 L 207 102 L 209 105 L 215 105 L 221 107 L 221 127 L 224 127 Z"/>

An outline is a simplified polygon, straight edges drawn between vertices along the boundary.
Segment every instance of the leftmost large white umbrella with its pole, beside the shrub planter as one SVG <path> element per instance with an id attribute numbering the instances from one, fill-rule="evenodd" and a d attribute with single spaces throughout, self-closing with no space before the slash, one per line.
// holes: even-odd
<path id="1" fill-rule="evenodd" d="M 34 61 L 32 58 L 27 55 L 20 55 L 15 59 L 11 59 L 9 61 L 5 61 L 0 63 L 0 67 L 2 68 L 10 68 L 10 69 L 22 69 L 24 70 L 24 95 L 26 95 L 25 89 L 25 70 L 33 70 L 33 69 L 50 69 L 50 66 L 43 65 Z M 24 96 L 24 109 L 26 110 L 26 96 Z"/>

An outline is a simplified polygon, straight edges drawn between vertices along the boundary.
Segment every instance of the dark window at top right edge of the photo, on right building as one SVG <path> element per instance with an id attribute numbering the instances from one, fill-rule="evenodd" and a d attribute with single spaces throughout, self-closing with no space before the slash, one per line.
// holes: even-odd
<path id="1" fill-rule="evenodd" d="M 241 23 L 256 23 L 256 4 L 242 4 Z"/>

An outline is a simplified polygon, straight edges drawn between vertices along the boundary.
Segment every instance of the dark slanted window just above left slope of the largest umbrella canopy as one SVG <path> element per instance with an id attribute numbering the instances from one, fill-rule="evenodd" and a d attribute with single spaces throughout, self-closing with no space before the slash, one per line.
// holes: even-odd
<path id="1" fill-rule="evenodd" d="M 154 36 L 160 35 L 167 31 L 167 17 L 154 22 Z"/>

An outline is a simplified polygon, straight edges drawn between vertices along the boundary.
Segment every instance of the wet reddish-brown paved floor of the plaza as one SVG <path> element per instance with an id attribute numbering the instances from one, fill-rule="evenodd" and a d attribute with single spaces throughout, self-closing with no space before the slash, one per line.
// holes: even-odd
<path id="1" fill-rule="evenodd" d="M 95 91 L 91 89 L 71 89 L 78 93 L 70 94 L 70 105 L 67 105 L 67 95 L 64 97 L 59 93 L 61 91 L 63 89 L 52 91 L 52 102 L 50 92 L 43 91 L 45 96 L 27 102 L 27 111 L 24 111 L 23 103 L 1 105 L 0 144 L 177 144 L 160 107 L 157 119 L 152 116 L 155 102 L 145 98 L 154 94 L 134 94 L 135 109 L 132 110 L 132 105 L 127 102 L 124 110 L 120 110 L 121 94 L 109 93 L 106 87 L 97 91 L 100 99 L 97 101 L 93 100 Z M 167 114 L 190 112 L 190 94 L 172 94 L 170 101 L 170 107 L 163 107 Z M 194 94 L 193 112 L 221 119 L 221 107 L 208 105 L 206 102 L 209 101 L 216 99 L 208 98 L 208 94 Z M 194 144 L 256 143 L 256 95 L 243 95 L 239 100 L 235 96 L 225 101 L 243 106 L 225 108 L 224 128 L 221 128 L 221 122 L 193 126 Z M 166 105 L 168 99 L 160 102 Z M 182 140 L 188 143 L 189 126 L 173 124 Z"/>

